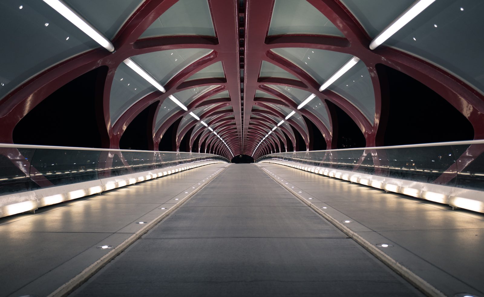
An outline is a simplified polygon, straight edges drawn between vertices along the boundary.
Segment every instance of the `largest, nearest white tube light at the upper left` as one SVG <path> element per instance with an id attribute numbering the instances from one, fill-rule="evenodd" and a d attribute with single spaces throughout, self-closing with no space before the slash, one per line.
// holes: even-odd
<path id="1" fill-rule="evenodd" d="M 92 27 L 86 20 L 84 20 L 79 14 L 67 6 L 63 1 L 60 0 L 44 0 L 47 5 L 52 7 L 55 11 L 65 17 L 69 22 L 73 23 L 74 26 L 81 29 L 89 37 L 91 37 L 95 42 L 99 43 L 102 47 L 110 52 L 114 52 L 114 45 L 104 37 L 101 32 Z"/>

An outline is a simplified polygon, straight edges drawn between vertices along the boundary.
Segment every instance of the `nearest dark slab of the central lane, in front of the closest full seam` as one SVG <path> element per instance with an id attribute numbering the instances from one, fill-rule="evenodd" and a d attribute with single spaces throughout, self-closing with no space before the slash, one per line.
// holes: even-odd
<path id="1" fill-rule="evenodd" d="M 352 240 L 291 238 L 139 240 L 71 296 L 322 295 L 421 296 Z"/>

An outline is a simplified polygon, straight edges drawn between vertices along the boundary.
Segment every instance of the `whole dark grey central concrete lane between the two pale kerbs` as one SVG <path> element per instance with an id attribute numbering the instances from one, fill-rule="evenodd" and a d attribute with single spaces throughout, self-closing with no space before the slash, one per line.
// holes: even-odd
<path id="1" fill-rule="evenodd" d="M 232 164 L 71 296 L 422 296 L 255 164 Z"/>

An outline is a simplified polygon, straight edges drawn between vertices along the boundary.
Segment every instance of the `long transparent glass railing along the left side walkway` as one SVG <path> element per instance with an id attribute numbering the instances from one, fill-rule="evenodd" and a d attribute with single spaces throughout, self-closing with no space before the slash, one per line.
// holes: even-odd
<path id="1" fill-rule="evenodd" d="M 0 148 L 0 196 L 200 160 L 225 159 L 209 154 L 177 152 Z"/>

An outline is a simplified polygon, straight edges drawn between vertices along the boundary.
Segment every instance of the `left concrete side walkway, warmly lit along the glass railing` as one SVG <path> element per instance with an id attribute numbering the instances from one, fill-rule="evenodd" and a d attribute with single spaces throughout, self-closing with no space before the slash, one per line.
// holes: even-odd
<path id="1" fill-rule="evenodd" d="M 0 297 L 54 292 L 175 209 L 227 164 L 212 164 L 0 219 Z"/>

